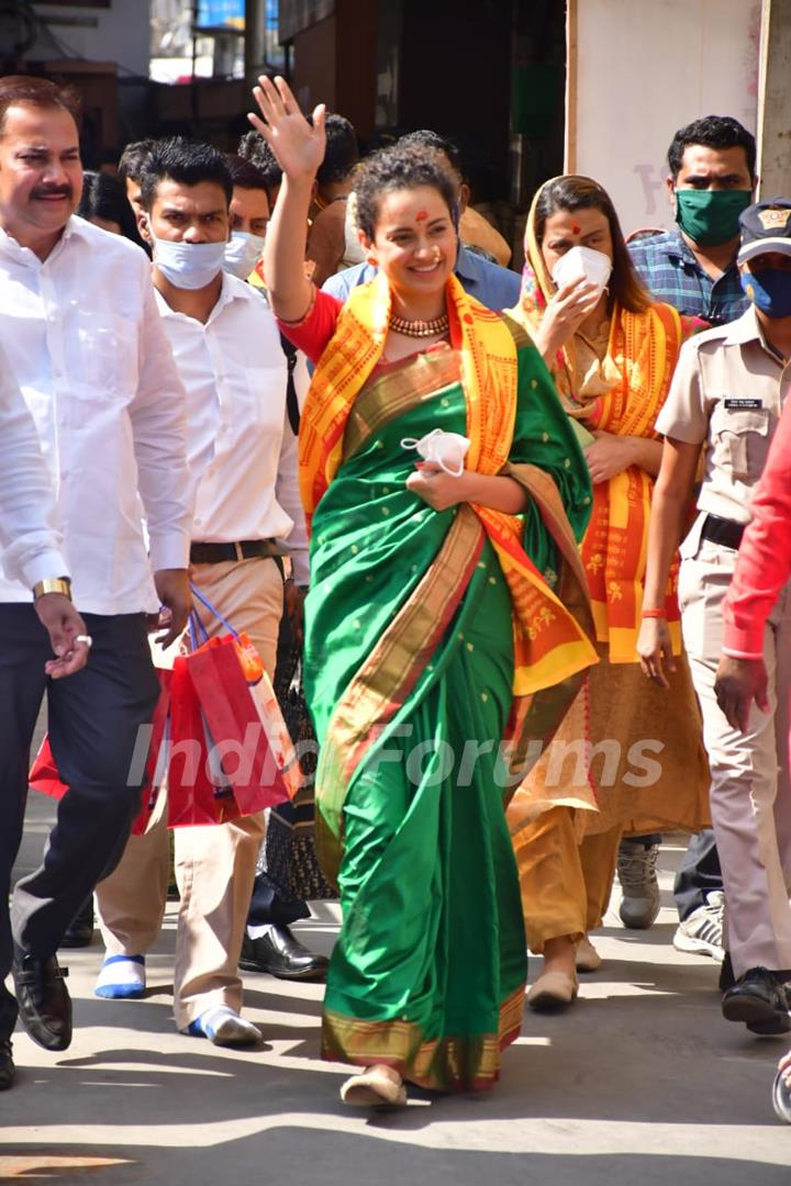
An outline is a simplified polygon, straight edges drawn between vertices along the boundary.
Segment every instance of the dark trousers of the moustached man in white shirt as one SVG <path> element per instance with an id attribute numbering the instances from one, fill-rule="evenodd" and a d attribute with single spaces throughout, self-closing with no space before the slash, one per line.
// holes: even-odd
<path id="1" fill-rule="evenodd" d="M 79 905 L 121 859 L 140 808 L 147 737 L 139 731 L 151 722 L 159 695 L 145 618 L 84 618 L 94 639 L 87 667 L 52 681 L 44 674 L 52 657 L 49 636 L 32 605 L 0 605 L 0 1037 L 17 1019 L 17 1002 L 2 987 L 12 931 L 33 955 L 53 955 Z M 30 748 L 45 693 L 52 754 L 69 789 L 43 862 L 18 882 L 9 912 Z"/>

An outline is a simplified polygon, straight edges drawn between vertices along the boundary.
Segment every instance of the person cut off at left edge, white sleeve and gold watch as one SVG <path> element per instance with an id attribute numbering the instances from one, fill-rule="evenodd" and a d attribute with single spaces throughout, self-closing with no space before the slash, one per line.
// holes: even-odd
<path id="1" fill-rule="evenodd" d="M 39 582 L 43 588 L 66 586 L 63 538 L 52 525 L 53 518 L 52 487 L 36 425 L 0 352 L 0 560 L 9 580 L 20 580 L 27 588 L 34 588 Z M 42 593 L 34 608 L 49 635 L 52 653 L 57 656 L 45 661 L 46 675 L 59 680 L 83 668 L 90 645 L 87 627 L 65 589 Z M 40 633 L 43 636 L 44 632 Z M 39 659 L 40 648 L 37 648 L 34 662 Z M 5 765 L 5 760 L 6 754 L 0 753 L 0 764 Z M 18 829 L 0 828 L 0 868 L 4 872 L 11 869 L 18 843 Z M 4 906 L 0 907 L 5 911 L 6 936 L 7 901 L 6 876 Z M 0 982 L 0 1091 L 14 1080 L 11 1032 L 15 1021 L 17 1001 Z"/>

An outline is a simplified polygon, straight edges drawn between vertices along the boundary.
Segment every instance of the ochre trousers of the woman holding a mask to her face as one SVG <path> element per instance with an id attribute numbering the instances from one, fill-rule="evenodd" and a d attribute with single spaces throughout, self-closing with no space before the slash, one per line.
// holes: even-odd
<path id="1" fill-rule="evenodd" d="M 547 939 L 580 939 L 601 926 L 610 903 L 623 824 L 576 840 L 574 811 L 543 811 L 513 837 L 528 946 L 542 955 Z"/>

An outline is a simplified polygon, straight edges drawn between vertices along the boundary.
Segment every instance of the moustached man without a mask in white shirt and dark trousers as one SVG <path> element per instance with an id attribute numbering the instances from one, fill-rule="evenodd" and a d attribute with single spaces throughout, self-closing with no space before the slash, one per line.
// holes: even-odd
<path id="1" fill-rule="evenodd" d="M 47 640 L 30 587 L 0 581 L 4 901 L 45 690 L 50 742 L 68 786 L 46 861 L 15 887 L 11 930 L 5 910 L 0 917 L 0 982 L 13 933 L 20 1018 L 49 1050 L 71 1040 L 55 952 L 121 856 L 140 804 L 132 758 L 158 697 L 146 613 L 155 619 L 166 607 L 167 643 L 190 610 L 184 390 L 145 255 L 74 216 L 82 189 L 77 119 L 74 96 L 55 83 L 0 78 L 0 347 L 36 421 L 56 527 L 93 637 L 84 670 L 65 688 L 46 686 Z"/>

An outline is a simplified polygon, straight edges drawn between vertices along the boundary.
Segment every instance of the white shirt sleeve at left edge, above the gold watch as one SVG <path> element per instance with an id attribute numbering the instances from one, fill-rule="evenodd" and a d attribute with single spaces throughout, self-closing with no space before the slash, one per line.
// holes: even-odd
<path id="1" fill-rule="evenodd" d="M 0 561 L 6 576 L 32 588 L 46 576 L 69 575 L 53 521 L 36 425 L 0 351 Z"/>

